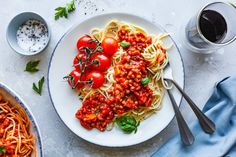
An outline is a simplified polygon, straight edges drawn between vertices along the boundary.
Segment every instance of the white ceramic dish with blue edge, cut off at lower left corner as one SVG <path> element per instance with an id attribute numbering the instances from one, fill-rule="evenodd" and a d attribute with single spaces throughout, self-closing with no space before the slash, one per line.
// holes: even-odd
<path id="1" fill-rule="evenodd" d="M 31 121 L 31 133 L 36 138 L 36 152 L 34 152 L 31 156 L 32 157 L 43 157 L 43 147 L 42 147 L 42 141 L 41 141 L 41 135 L 39 132 L 39 127 L 37 122 L 35 121 L 35 118 L 30 111 L 29 107 L 26 105 L 26 103 L 19 97 L 17 93 L 15 93 L 11 88 L 6 86 L 3 83 L 0 83 L 0 94 L 3 96 L 3 98 L 7 101 L 9 101 L 11 104 L 19 104 L 21 107 L 26 111 L 26 114 L 28 115 L 30 121 Z M 36 155 L 35 155 L 36 153 Z"/>

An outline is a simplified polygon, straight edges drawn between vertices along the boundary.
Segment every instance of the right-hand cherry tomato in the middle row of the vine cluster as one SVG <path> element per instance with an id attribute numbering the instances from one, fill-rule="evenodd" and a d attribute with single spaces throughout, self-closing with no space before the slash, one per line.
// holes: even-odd
<path id="1" fill-rule="evenodd" d="M 92 57 L 93 69 L 106 71 L 111 66 L 111 59 L 105 54 L 96 54 Z"/>

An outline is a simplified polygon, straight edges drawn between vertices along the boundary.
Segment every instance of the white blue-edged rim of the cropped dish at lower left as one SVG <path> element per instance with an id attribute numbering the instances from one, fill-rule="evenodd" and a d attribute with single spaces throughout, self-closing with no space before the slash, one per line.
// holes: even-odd
<path id="1" fill-rule="evenodd" d="M 8 92 L 11 96 L 14 97 L 14 99 L 20 104 L 20 106 L 25 110 L 27 116 L 30 119 L 31 122 L 31 127 L 33 127 L 34 129 L 34 135 L 37 138 L 36 143 L 39 144 L 39 157 L 43 157 L 43 143 L 42 143 L 42 135 L 41 135 L 41 131 L 39 129 L 39 125 L 32 113 L 32 111 L 30 110 L 30 107 L 25 103 L 25 101 L 22 99 L 22 97 L 15 92 L 12 88 L 10 88 L 9 86 L 7 86 L 5 83 L 0 82 L 0 88 L 3 88 L 6 92 Z M 37 152 L 36 152 L 37 153 Z M 37 154 L 36 154 L 37 155 Z"/>

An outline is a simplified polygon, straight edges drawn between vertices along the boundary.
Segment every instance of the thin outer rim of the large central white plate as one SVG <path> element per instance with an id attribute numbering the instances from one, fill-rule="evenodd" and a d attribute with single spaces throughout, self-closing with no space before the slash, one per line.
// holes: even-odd
<path id="1" fill-rule="evenodd" d="M 169 124 L 167 124 L 159 133 L 151 136 L 150 138 L 148 138 L 147 140 L 144 140 L 142 142 L 138 142 L 138 143 L 134 143 L 134 144 L 126 144 L 126 145 L 112 145 L 112 146 L 108 146 L 108 145 L 105 145 L 105 144 L 100 144 L 100 143 L 97 143 L 97 142 L 92 142 L 90 140 L 87 140 L 79 135 L 77 135 L 72 129 L 69 128 L 69 126 L 66 124 L 66 122 L 61 118 L 60 114 L 58 113 L 56 107 L 55 107 L 55 104 L 53 102 L 53 99 L 52 99 L 52 96 L 51 96 L 51 90 L 50 90 L 50 85 L 49 85 L 49 73 L 50 73 L 50 68 L 51 68 L 51 64 L 52 64 L 52 59 L 53 59 L 53 56 L 55 54 L 55 51 L 58 47 L 58 45 L 61 43 L 61 40 L 67 35 L 69 34 L 73 29 L 75 29 L 78 25 L 80 25 L 81 23 L 87 21 L 87 20 L 90 20 L 91 18 L 98 18 L 98 17 L 102 17 L 102 16 L 108 16 L 108 15 L 127 15 L 127 16 L 133 16 L 133 17 L 137 17 L 137 18 L 140 18 L 140 19 L 143 19 L 143 20 L 146 20 L 150 23 L 152 23 L 154 26 L 158 27 L 161 31 L 163 32 L 167 32 L 164 27 L 162 25 L 160 25 L 159 23 L 153 23 L 151 22 L 149 19 L 146 19 L 145 17 L 142 17 L 142 16 L 139 16 L 139 15 L 134 15 L 132 13 L 125 13 L 125 12 L 107 12 L 107 13 L 101 13 L 101 14 L 98 14 L 98 15 L 94 15 L 94 16 L 89 16 L 88 18 L 85 18 L 85 19 L 82 19 L 81 21 L 79 22 L 76 22 L 75 24 L 73 24 L 68 30 L 66 30 L 66 32 L 61 36 L 61 38 L 58 40 L 58 42 L 56 43 L 54 49 L 53 49 L 53 52 L 51 54 L 51 57 L 50 57 L 50 60 L 49 60 L 49 66 L 48 66 L 48 72 L 47 72 L 47 88 L 48 88 L 48 93 L 49 93 L 49 97 L 50 97 L 50 100 L 51 100 L 51 103 L 53 105 L 53 108 L 54 110 L 56 111 L 56 114 L 58 115 L 58 117 L 60 118 L 60 120 L 63 122 L 63 124 L 73 133 L 75 134 L 77 137 L 89 142 L 89 143 L 92 143 L 92 144 L 96 144 L 96 145 L 99 145 L 99 146 L 103 146 L 103 147 L 110 147 L 110 148 L 114 148 L 114 147 L 128 147 L 128 146 L 134 146 L 134 145 L 138 145 L 138 144 L 141 144 L 141 143 L 144 143 L 150 139 L 152 139 L 153 137 L 155 136 L 158 136 L 161 132 L 163 132 L 164 130 L 166 130 L 166 128 L 170 125 L 170 123 L 173 121 L 173 119 L 175 118 L 175 114 L 173 116 L 173 118 L 170 120 Z M 183 57 L 182 57 L 182 54 L 180 53 L 180 49 L 179 47 L 177 46 L 175 40 L 172 38 L 172 36 L 170 35 L 170 39 L 173 41 L 173 44 L 175 45 L 177 51 L 178 51 L 178 54 L 180 56 L 180 59 L 181 59 L 181 65 L 182 65 L 182 69 L 183 69 L 183 90 L 185 90 L 185 66 L 184 66 L 184 62 L 183 62 Z M 178 104 L 178 107 L 181 106 L 182 104 L 182 101 L 183 101 L 183 96 L 181 95 L 181 98 L 180 98 L 180 102 Z"/>

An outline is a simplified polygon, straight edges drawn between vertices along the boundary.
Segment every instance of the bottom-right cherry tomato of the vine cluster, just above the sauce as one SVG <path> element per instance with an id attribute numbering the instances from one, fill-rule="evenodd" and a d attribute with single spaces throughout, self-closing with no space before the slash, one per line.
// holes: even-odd
<path id="1" fill-rule="evenodd" d="M 91 71 L 86 76 L 87 81 L 92 81 L 93 88 L 99 88 L 105 82 L 104 74 L 100 71 Z"/>

